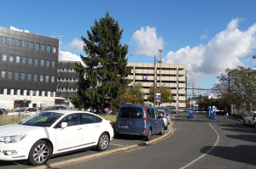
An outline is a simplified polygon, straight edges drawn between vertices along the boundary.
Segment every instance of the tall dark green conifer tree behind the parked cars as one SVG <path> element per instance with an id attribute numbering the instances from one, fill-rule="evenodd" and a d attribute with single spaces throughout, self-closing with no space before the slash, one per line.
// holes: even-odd
<path id="1" fill-rule="evenodd" d="M 85 109 L 102 112 L 104 108 L 113 109 L 121 104 L 120 97 L 130 83 L 126 77 L 131 73 L 125 59 L 128 46 L 120 43 L 122 33 L 118 21 L 107 12 L 104 18 L 90 26 L 87 38 L 81 37 L 88 56 L 81 55 L 85 66 L 75 66 L 84 77 L 79 82 L 79 97 L 73 97 L 75 105 L 83 103 Z"/>

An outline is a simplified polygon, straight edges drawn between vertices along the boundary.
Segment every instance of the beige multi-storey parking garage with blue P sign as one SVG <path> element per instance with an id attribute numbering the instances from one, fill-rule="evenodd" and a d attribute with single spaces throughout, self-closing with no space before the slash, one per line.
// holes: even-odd
<path id="1" fill-rule="evenodd" d="M 154 86 L 154 80 L 157 87 L 165 86 L 172 89 L 174 100 L 165 105 L 174 105 L 177 107 L 186 107 L 186 87 L 187 72 L 183 64 L 154 64 L 151 63 L 128 63 L 132 68 L 131 75 L 128 76 L 132 82 L 141 82 L 143 92 L 146 93 L 145 101 L 148 99 L 149 88 Z M 155 76 L 155 77 L 154 77 Z"/>

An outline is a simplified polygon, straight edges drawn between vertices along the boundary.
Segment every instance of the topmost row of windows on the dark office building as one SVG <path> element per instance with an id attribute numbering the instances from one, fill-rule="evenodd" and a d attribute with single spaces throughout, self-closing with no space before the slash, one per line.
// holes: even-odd
<path id="1" fill-rule="evenodd" d="M 56 53 L 56 47 L 51 47 L 50 45 L 35 43 L 35 42 L 27 42 L 21 40 L 15 40 L 9 37 L 0 37 L 0 44 L 9 44 L 12 46 L 20 47 L 20 48 L 31 48 L 35 50 L 41 50 L 51 53 Z"/>

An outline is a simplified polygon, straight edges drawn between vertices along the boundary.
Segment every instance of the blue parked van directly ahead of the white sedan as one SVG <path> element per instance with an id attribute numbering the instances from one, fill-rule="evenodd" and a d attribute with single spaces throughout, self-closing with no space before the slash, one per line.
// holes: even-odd
<path id="1" fill-rule="evenodd" d="M 152 134 L 164 134 L 164 121 L 155 107 L 142 104 L 122 104 L 116 120 L 116 134 L 143 136 L 150 140 Z"/>

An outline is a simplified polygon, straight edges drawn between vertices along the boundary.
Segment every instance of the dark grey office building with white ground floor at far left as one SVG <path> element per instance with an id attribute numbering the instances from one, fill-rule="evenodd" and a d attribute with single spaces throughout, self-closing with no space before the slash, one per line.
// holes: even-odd
<path id="1" fill-rule="evenodd" d="M 34 107 L 55 103 L 59 40 L 0 27 L 0 100 Z"/>

